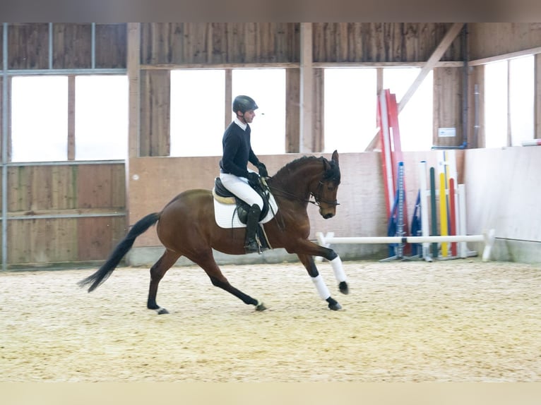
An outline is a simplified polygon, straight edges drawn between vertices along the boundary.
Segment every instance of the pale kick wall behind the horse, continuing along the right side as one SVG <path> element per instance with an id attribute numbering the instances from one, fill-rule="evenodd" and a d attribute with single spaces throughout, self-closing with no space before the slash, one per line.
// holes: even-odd
<path id="1" fill-rule="evenodd" d="M 323 219 L 309 205 L 311 236 L 334 232 L 335 236 L 386 236 L 384 188 L 379 152 L 340 152 L 342 183 L 337 215 Z M 435 150 L 404 152 L 406 203 L 411 220 L 419 188 L 417 164 L 426 160 L 436 166 Z M 319 154 L 314 154 L 319 155 Z M 330 158 L 330 154 L 321 154 Z M 301 157 L 300 154 L 261 155 L 269 173 Z M 218 174 L 219 157 L 141 157 L 129 160 L 129 223 L 155 212 L 174 195 L 189 188 L 211 188 Z M 535 181 L 541 172 L 541 147 L 457 150 L 458 183 L 464 183 L 468 234 L 495 229 L 492 260 L 541 262 L 540 191 Z M 469 243 L 482 252 L 482 244 Z M 333 246 L 344 260 L 388 257 L 387 245 L 351 244 Z M 126 260 L 129 265 L 152 265 L 163 251 L 154 229 L 140 236 Z M 263 255 L 232 256 L 216 253 L 219 264 L 295 261 L 283 249 Z M 177 265 L 191 264 L 185 258 Z"/>

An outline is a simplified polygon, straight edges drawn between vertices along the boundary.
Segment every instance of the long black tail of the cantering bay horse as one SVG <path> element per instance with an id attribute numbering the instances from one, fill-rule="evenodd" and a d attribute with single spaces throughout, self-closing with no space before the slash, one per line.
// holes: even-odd
<path id="1" fill-rule="evenodd" d="M 146 217 L 139 219 L 138 222 L 133 224 L 126 237 L 122 239 L 116 248 L 114 248 L 111 255 L 109 255 L 109 258 L 102 265 L 102 267 L 100 267 L 97 272 L 86 277 L 77 284 L 83 287 L 92 283 L 92 285 L 88 288 L 88 292 L 94 291 L 111 275 L 113 270 L 119 264 L 120 260 L 122 260 L 124 255 L 128 253 L 128 250 L 131 249 L 131 246 L 133 246 L 133 242 L 136 240 L 137 236 L 143 234 L 143 232 L 150 228 L 150 226 L 153 226 L 153 224 L 155 224 L 159 218 L 160 213 L 153 212 L 153 214 L 148 214 Z"/>

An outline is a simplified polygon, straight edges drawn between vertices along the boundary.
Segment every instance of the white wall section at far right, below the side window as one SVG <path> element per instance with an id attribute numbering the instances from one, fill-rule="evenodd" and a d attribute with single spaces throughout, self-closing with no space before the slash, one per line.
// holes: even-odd
<path id="1" fill-rule="evenodd" d="M 468 233 L 496 231 L 495 260 L 541 262 L 541 147 L 468 150 Z"/>

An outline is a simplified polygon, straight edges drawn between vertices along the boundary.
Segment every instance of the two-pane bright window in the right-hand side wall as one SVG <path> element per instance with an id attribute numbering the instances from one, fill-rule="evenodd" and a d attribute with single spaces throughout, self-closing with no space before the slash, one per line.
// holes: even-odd
<path id="1" fill-rule="evenodd" d="M 534 136 L 533 56 L 484 66 L 485 147 L 521 145 Z"/>

